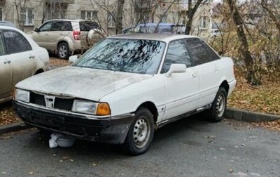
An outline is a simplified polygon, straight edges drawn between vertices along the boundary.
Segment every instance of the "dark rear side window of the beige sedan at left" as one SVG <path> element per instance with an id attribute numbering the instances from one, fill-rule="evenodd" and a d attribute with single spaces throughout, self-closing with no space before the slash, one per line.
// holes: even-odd
<path id="1" fill-rule="evenodd" d="M 6 41 L 6 48 L 8 53 L 19 53 L 24 51 L 31 51 L 32 48 L 19 32 L 3 30 L 3 37 Z"/>

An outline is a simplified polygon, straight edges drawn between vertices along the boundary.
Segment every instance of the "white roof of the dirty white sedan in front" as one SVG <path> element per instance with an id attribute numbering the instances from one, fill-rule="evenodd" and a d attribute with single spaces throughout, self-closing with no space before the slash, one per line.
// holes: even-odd
<path id="1" fill-rule="evenodd" d="M 183 35 L 183 34 L 132 33 L 132 34 L 118 34 L 108 38 L 109 39 L 145 39 L 145 40 L 165 41 L 168 43 L 169 41 L 172 41 L 174 39 L 184 39 L 184 38 L 194 38 L 194 37 L 195 36 Z"/>

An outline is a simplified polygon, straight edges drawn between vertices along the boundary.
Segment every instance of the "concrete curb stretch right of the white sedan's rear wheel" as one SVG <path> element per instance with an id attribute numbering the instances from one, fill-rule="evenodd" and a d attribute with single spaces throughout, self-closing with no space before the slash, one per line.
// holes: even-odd
<path id="1" fill-rule="evenodd" d="M 230 107 L 225 111 L 225 117 L 227 119 L 235 119 L 245 122 L 269 122 L 280 119 L 280 116 L 274 114 L 249 112 L 246 110 L 237 110 Z"/>

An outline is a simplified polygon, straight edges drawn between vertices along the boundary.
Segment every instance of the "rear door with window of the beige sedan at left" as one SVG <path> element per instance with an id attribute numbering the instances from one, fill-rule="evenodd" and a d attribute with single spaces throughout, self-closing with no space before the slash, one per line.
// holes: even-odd
<path id="1" fill-rule="evenodd" d="M 12 89 L 19 81 L 34 74 L 36 53 L 25 37 L 13 29 L 5 29 L 3 38 L 6 44 L 6 58 L 10 60 L 12 70 Z"/>

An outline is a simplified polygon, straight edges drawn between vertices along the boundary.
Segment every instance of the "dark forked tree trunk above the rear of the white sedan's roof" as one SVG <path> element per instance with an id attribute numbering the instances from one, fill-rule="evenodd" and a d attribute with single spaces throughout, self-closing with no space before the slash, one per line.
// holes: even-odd
<path id="1" fill-rule="evenodd" d="M 195 15 L 195 12 L 197 11 L 197 8 L 202 4 L 202 1 L 204 0 L 198 0 L 195 3 L 195 6 L 192 7 L 192 0 L 188 0 L 188 11 L 187 11 L 187 16 L 188 20 L 186 22 L 186 31 L 185 34 L 190 34 L 190 30 L 192 29 L 192 22 L 193 22 L 193 16 Z"/>

